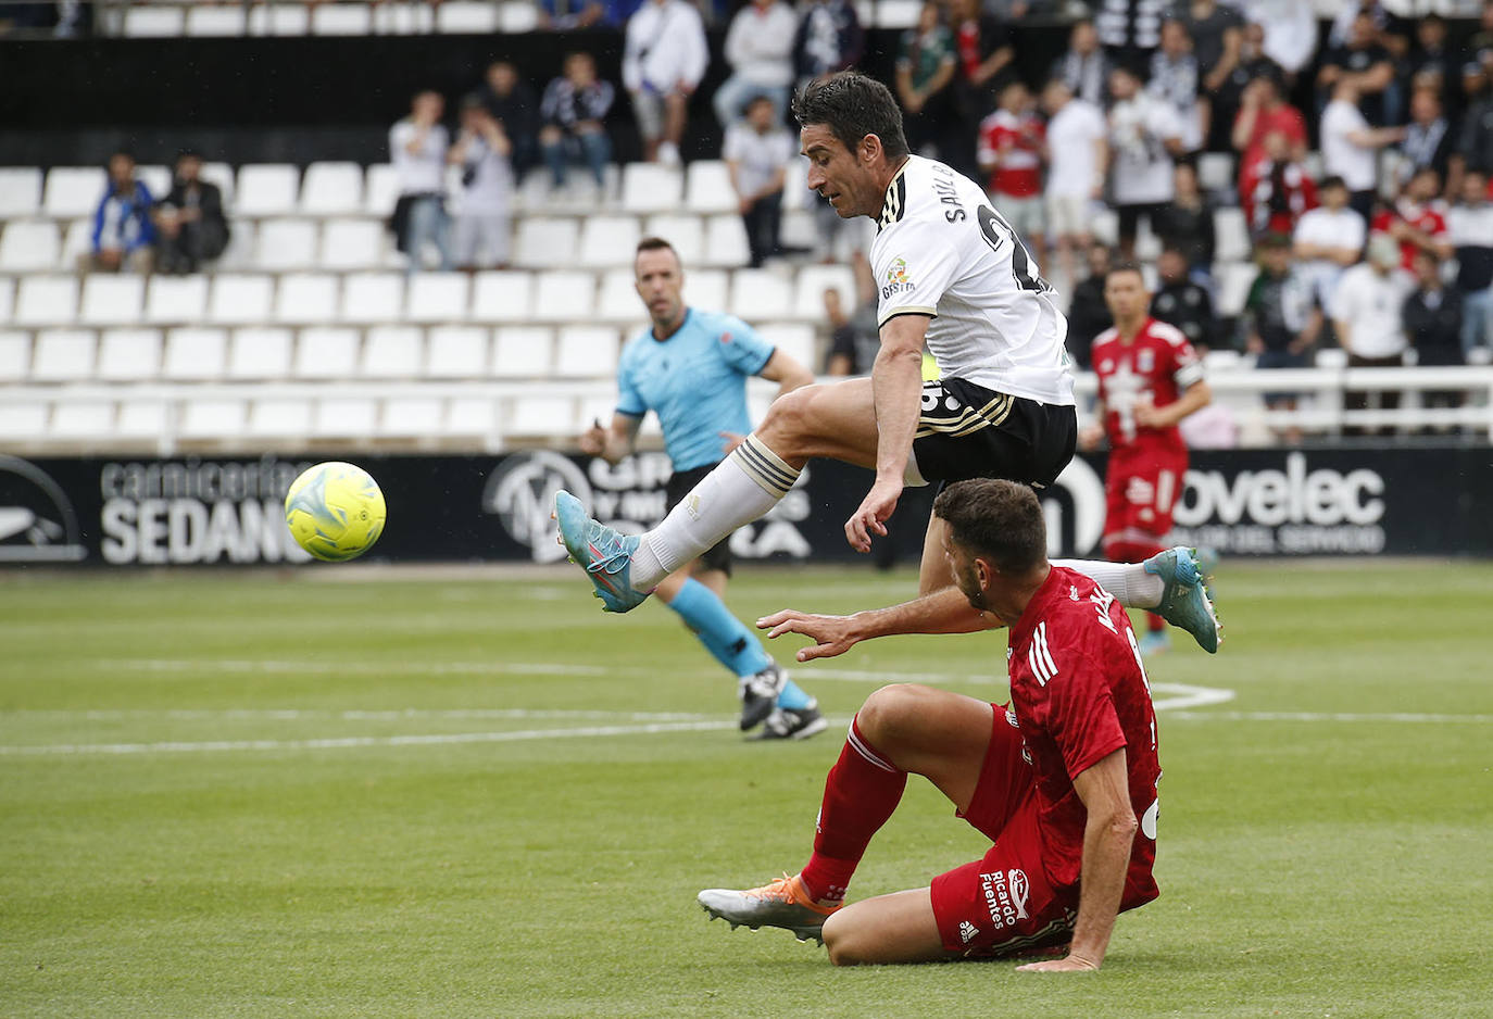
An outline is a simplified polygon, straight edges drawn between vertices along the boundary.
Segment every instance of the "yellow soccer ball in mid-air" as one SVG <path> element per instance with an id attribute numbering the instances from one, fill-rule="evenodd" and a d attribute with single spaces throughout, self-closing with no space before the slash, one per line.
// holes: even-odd
<path id="1" fill-rule="evenodd" d="M 327 562 L 345 562 L 373 548 L 384 533 L 384 492 L 352 464 L 308 467 L 285 495 L 285 524 L 296 545 Z"/>

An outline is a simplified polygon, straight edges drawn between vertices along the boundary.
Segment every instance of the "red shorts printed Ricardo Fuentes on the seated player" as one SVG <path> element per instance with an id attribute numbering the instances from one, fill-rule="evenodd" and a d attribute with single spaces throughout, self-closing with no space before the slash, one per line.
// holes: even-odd
<path id="1" fill-rule="evenodd" d="M 969 958 L 1066 944 L 1078 913 L 1078 889 L 1047 880 L 1032 764 L 1006 709 L 994 709 L 985 764 L 961 816 L 996 844 L 984 859 L 935 877 L 932 888 L 944 947 Z"/>

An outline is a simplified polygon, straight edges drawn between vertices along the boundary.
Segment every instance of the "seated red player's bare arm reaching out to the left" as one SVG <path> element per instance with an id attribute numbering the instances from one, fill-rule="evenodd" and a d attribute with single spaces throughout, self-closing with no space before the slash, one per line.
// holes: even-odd
<path id="1" fill-rule="evenodd" d="M 976 633 L 1005 625 L 994 613 L 972 607 L 959 588 L 944 588 L 914 601 L 851 616 L 818 616 L 784 609 L 757 621 L 757 628 L 767 630 L 769 637 L 796 633 L 812 640 L 811 648 L 799 650 L 799 661 L 835 658 L 872 637 Z"/>

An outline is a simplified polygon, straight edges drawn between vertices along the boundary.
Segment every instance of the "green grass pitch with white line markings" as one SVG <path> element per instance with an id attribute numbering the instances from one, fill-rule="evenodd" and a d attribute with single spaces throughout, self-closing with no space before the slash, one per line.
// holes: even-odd
<path id="1" fill-rule="evenodd" d="M 802 865 L 878 685 L 1000 698 L 1002 634 L 800 667 L 833 725 L 763 746 L 672 613 L 567 573 L 4 574 L 0 1016 L 1493 1015 L 1493 565 L 1226 562 L 1218 594 L 1223 652 L 1150 664 L 1162 898 L 1044 977 L 835 970 L 694 904 Z M 982 850 L 914 779 L 851 895 Z"/>

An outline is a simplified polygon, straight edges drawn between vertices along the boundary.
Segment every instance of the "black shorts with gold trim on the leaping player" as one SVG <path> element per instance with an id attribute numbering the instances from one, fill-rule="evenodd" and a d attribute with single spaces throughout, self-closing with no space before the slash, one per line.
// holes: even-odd
<path id="1" fill-rule="evenodd" d="M 1012 397 L 964 379 L 923 383 L 912 455 L 927 482 L 1003 477 L 1047 488 L 1076 445 L 1072 406 Z"/>

